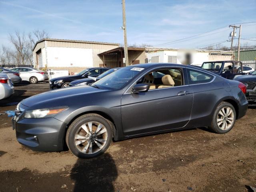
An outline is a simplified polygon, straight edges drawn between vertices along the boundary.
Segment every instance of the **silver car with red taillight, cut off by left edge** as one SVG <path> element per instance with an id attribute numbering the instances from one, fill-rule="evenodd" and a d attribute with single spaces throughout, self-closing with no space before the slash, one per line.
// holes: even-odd
<path id="1" fill-rule="evenodd" d="M 8 74 L 0 73 L 0 100 L 10 97 L 14 94 L 12 80 Z"/>

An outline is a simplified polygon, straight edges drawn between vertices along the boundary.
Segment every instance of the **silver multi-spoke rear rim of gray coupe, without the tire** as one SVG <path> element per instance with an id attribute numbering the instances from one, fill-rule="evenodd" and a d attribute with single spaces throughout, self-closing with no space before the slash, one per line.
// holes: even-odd
<path id="1" fill-rule="evenodd" d="M 221 130 L 228 130 L 234 122 L 234 112 L 232 108 L 226 106 L 220 109 L 217 116 L 217 124 Z"/>

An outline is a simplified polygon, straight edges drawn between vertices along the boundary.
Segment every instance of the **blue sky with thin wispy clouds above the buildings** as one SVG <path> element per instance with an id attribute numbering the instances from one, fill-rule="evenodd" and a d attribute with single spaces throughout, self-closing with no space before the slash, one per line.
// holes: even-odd
<path id="1" fill-rule="evenodd" d="M 35 29 L 46 30 L 51 38 L 122 43 L 121 2 L 0 0 L 0 44 L 10 45 L 9 32 Z M 201 38 L 158 46 L 200 48 L 228 40 L 231 28 L 227 25 L 244 22 L 255 23 L 242 24 L 242 38 L 256 40 L 256 0 L 126 0 L 126 20 L 128 44 L 156 46 L 214 30 Z"/>

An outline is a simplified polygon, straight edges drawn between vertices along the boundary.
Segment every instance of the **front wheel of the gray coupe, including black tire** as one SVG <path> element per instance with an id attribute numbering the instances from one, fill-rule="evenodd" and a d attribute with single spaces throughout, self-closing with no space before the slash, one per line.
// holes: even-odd
<path id="1" fill-rule="evenodd" d="M 78 117 L 69 126 L 66 144 L 79 158 L 94 158 L 103 154 L 110 146 L 112 129 L 108 121 L 98 114 Z"/>

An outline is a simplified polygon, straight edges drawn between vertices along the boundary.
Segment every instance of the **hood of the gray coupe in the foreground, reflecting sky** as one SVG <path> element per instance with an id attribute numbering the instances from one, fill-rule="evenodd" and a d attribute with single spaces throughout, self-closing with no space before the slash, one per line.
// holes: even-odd
<path id="1" fill-rule="evenodd" d="M 98 89 L 90 86 L 78 86 L 70 88 L 62 88 L 58 90 L 52 90 L 44 92 L 27 99 L 22 100 L 21 104 L 27 107 L 31 107 L 40 103 L 50 102 L 61 98 L 68 98 L 78 95 L 86 95 L 94 92 L 104 92 L 106 90 Z"/>

